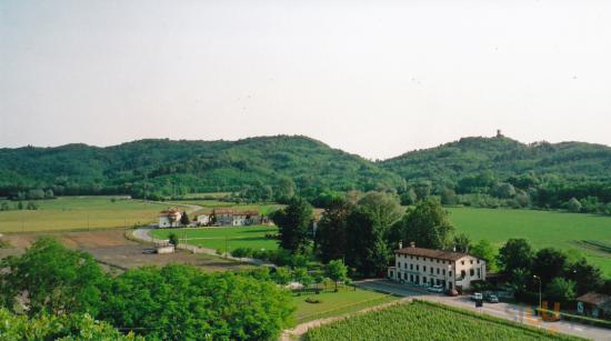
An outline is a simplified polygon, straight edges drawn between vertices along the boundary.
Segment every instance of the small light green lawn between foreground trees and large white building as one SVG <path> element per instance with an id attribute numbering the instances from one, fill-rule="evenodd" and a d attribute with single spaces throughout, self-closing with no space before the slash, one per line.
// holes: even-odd
<path id="1" fill-rule="evenodd" d="M 321 302 L 308 303 L 306 302 L 307 298 L 319 299 Z M 354 290 L 353 288 L 341 288 L 338 292 L 324 291 L 319 294 L 293 294 L 293 303 L 297 307 L 297 323 L 343 315 L 398 299 L 393 295 L 362 289 Z"/>

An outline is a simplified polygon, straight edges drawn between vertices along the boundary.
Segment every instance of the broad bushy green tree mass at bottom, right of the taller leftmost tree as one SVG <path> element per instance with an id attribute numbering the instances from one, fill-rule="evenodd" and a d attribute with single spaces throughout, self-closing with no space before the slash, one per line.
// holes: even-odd
<path id="1" fill-rule="evenodd" d="M 293 311 L 271 281 L 173 264 L 121 273 L 100 318 L 150 340 L 276 340 Z"/>

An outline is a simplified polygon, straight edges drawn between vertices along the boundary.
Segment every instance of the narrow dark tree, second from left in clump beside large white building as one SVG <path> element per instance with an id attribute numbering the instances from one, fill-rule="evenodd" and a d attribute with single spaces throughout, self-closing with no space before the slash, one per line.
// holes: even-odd
<path id="1" fill-rule="evenodd" d="M 315 232 L 320 258 L 323 262 L 345 255 L 347 219 L 353 205 L 344 198 L 331 199 L 322 213 Z"/>

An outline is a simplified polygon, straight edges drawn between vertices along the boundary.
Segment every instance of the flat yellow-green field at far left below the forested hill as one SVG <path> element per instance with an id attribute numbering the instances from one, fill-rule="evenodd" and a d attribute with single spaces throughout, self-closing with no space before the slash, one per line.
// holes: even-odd
<path id="1" fill-rule="evenodd" d="M 17 204 L 3 202 L 11 208 Z M 36 211 L 0 211 L 0 233 L 129 228 L 153 222 L 160 211 L 172 205 L 124 197 L 60 197 L 33 202 L 39 207 Z"/>

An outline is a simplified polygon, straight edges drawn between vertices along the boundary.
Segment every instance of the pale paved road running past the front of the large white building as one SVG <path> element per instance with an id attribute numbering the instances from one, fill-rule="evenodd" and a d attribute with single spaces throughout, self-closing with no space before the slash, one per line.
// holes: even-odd
<path id="1" fill-rule="evenodd" d="M 367 280 L 354 283 L 359 287 L 375 291 L 412 297 L 462 309 L 469 309 L 535 328 L 544 328 L 551 331 L 572 334 L 585 339 L 611 341 L 611 330 L 609 329 L 570 321 L 544 322 L 533 315 L 532 307 L 512 303 L 484 303 L 482 308 L 475 308 L 474 303 L 464 295 L 448 297 L 442 294 L 431 294 L 421 288 L 400 284 L 388 280 Z"/>

